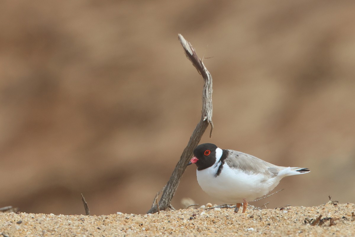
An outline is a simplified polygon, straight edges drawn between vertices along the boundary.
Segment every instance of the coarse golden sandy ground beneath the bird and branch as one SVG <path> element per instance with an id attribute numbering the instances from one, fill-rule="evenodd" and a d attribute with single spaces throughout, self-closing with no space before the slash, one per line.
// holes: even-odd
<path id="1" fill-rule="evenodd" d="M 354 236 L 355 204 L 102 216 L 2 213 L 2 236 Z M 320 215 L 322 215 L 320 217 Z M 320 217 L 320 218 L 319 218 Z"/>

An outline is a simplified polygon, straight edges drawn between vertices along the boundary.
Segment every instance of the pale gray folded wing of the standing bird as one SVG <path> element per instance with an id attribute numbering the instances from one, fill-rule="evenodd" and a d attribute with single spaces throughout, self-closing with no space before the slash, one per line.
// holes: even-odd
<path id="1" fill-rule="evenodd" d="M 276 166 L 255 156 L 234 150 L 227 150 L 228 157 L 224 160 L 231 168 L 241 169 L 247 174 L 264 174 L 266 179 L 277 176 L 286 167 Z"/>

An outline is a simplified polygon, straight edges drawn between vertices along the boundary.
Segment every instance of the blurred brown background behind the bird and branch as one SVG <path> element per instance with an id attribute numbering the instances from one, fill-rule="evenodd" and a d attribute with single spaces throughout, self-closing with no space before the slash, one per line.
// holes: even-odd
<path id="1" fill-rule="evenodd" d="M 355 202 L 354 1 L 0 3 L 0 207 L 145 213 L 201 116 L 212 139 L 282 166 L 283 192 L 255 205 Z M 208 45 L 208 47 L 207 47 Z M 209 131 L 209 129 L 208 129 Z M 173 206 L 205 194 L 188 167 Z"/>

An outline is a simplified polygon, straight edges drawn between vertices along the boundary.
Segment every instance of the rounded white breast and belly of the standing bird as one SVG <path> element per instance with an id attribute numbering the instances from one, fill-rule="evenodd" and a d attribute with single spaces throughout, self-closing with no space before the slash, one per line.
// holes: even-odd
<path id="1" fill-rule="evenodd" d="M 242 203 L 244 198 L 247 201 L 255 200 L 270 192 L 280 182 L 277 176 L 265 180 L 263 174 L 247 174 L 240 169 L 231 169 L 226 164 L 219 176 L 215 177 L 217 170 L 218 166 L 215 165 L 197 170 L 197 182 L 212 198 L 228 204 Z"/>

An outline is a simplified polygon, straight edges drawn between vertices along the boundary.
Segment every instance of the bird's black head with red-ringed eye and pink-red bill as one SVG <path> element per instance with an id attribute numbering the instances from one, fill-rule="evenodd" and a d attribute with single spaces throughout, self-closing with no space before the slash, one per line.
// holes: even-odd
<path id="1" fill-rule="evenodd" d="M 211 167 L 216 162 L 217 148 L 218 147 L 212 143 L 198 145 L 195 150 L 193 150 L 194 157 L 192 157 L 188 165 L 195 163 L 198 170 Z"/>

